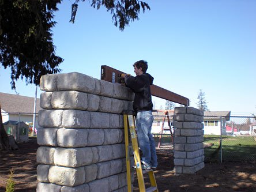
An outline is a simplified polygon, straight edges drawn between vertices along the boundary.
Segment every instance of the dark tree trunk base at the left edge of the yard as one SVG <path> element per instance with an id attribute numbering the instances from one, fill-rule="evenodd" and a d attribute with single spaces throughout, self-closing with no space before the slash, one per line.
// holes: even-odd
<path id="1" fill-rule="evenodd" d="M 18 145 L 14 140 L 13 135 L 8 137 L 5 129 L 3 128 L 2 112 L 0 105 L 0 150 L 17 150 Z"/>

